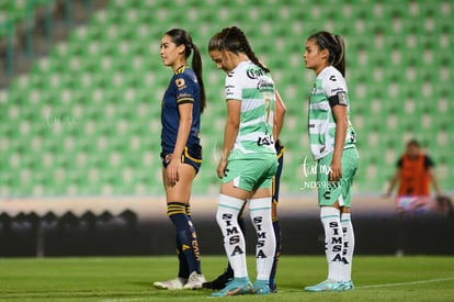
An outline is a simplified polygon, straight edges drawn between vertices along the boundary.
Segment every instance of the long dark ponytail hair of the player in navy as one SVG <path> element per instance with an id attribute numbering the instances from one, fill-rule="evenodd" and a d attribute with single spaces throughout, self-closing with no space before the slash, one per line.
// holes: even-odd
<path id="1" fill-rule="evenodd" d="M 198 87 L 201 88 L 201 112 L 206 107 L 206 97 L 205 97 L 205 86 L 203 85 L 203 78 L 202 78 L 202 56 L 201 52 L 198 51 L 198 47 L 192 43 L 191 35 L 180 29 L 173 29 L 166 33 L 168 36 L 172 37 L 172 42 L 177 44 L 177 46 L 183 44 L 185 46 L 184 56 L 188 59 L 191 54 L 192 56 L 192 63 L 191 68 L 194 70 L 195 76 L 197 77 Z"/>

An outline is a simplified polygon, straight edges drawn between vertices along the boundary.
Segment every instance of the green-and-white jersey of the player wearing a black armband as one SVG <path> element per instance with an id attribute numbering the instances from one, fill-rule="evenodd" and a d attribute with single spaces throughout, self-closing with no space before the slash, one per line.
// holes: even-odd
<path id="1" fill-rule="evenodd" d="M 334 149 L 336 122 L 328 99 L 336 94 L 348 107 L 349 112 L 344 148 L 354 147 L 356 143 L 356 134 L 350 122 L 345 79 L 338 69 L 329 66 L 317 76 L 309 99 L 309 142 L 315 159 L 320 159 Z"/>

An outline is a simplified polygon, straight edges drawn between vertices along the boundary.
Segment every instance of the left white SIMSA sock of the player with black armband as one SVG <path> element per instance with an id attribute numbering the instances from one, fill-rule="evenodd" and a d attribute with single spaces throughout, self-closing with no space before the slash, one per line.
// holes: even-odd
<path id="1" fill-rule="evenodd" d="M 328 279 L 342 281 L 343 233 L 340 211 L 332 206 L 321 206 L 320 220 L 325 228 L 325 254 L 328 262 Z"/>

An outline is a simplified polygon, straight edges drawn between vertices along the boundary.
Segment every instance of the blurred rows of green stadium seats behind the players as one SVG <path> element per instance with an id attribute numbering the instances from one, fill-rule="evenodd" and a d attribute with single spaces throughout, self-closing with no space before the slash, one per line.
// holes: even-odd
<path id="1" fill-rule="evenodd" d="M 8 3 L 14 9 L 1 2 L 0 11 L 23 13 L 24 1 Z M 206 46 L 234 24 L 272 69 L 287 107 L 283 193 L 302 192 L 300 165 L 306 157 L 313 163 L 306 122 L 314 72 L 305 70 L 303 52 L 306 37 L 319 30 L 347 41 L 361 155 L 354 189 L 384 192 L 406 141 L 415 137 L 439 163 L 441 187 L 452 190 L 452 9 L 447 0 L 113 0 L 0 94 L 0 194 L 162 194 L 160 102 L 171 70 L 161 64 L 159 44 L 175 26 L 192 34 L 204 59 L 204 164 L 193 192 L 216 193 L 225 75 Z"/>

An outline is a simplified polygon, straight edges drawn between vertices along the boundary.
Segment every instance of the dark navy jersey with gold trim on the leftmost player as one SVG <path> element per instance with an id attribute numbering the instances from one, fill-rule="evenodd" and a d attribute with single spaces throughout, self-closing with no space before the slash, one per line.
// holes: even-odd
<path id="1" fill-rule="evenodd" d="M 201 93 L 197 77 L 186 67 L 180 67 L 172 79 L 162 99 L 161 107 L 161 148 L 163 154 L 173 153 L 177 143 L 180 114 L 178 107 L 192 103 L 192 125 L 186 146 L 200 145 L 198 132 L 201 128 Z"/>

